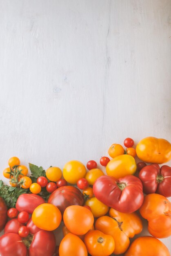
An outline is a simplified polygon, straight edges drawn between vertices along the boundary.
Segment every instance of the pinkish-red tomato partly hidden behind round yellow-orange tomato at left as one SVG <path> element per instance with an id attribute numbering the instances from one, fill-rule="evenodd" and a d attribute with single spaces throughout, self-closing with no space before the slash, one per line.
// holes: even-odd
<path id="1" fill-rule="evenodd" d="M 40 195 L 35 194 L 22 194 L 19 196 L 16 202 L 16 209 L 20 211 L 27 211 L 33 213 L 34 209 L 38 205 L 45 203 L 44 199 Z"/>

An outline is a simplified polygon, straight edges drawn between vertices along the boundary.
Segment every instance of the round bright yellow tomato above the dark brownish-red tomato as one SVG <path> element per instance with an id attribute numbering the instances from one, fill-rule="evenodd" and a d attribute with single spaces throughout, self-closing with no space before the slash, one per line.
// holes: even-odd
<path id="1" fill-rule="evenodd" d="M 76 184 L 79 179 L 84 178 L 85 174 L 86 168 L 84 164 L 77 160 L 72 160 L 64 165 L 64 179 L 71 184 Z"/>

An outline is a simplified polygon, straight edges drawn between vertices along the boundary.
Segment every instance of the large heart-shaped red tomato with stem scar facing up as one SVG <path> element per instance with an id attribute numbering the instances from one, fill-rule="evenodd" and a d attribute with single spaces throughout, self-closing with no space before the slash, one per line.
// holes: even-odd
<path id="1" fill-rule="evenodd" d="M 144 200 L 142 189 L 142 182 L 133 175 L 118 180 L 104 175 L 93 185 L 94 195 L 100 202 L 123 213 L 133 213 L 141 207 Z"/>

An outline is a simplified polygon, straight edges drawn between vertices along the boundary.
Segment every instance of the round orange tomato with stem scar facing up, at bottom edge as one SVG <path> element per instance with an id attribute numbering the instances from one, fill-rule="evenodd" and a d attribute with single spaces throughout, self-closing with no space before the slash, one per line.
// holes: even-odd
<path id="1" fill-rule="evenodd" d="M 99 230 L 89 231 L 84 237 L 84 243 L 91 256 L 109 256 L 115 249 L 113 237 Z"/>

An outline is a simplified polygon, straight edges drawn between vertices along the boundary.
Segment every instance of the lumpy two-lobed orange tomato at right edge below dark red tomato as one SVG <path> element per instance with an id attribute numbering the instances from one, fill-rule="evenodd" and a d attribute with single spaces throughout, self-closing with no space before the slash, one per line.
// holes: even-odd
<path id="1" fill-rule="evenodd" d="M 163 195 L 146 195 L 140 214 L 148 220 L 148 230 L 152 236 L 157 238 L 171 236 L 171 202 Z"/>

